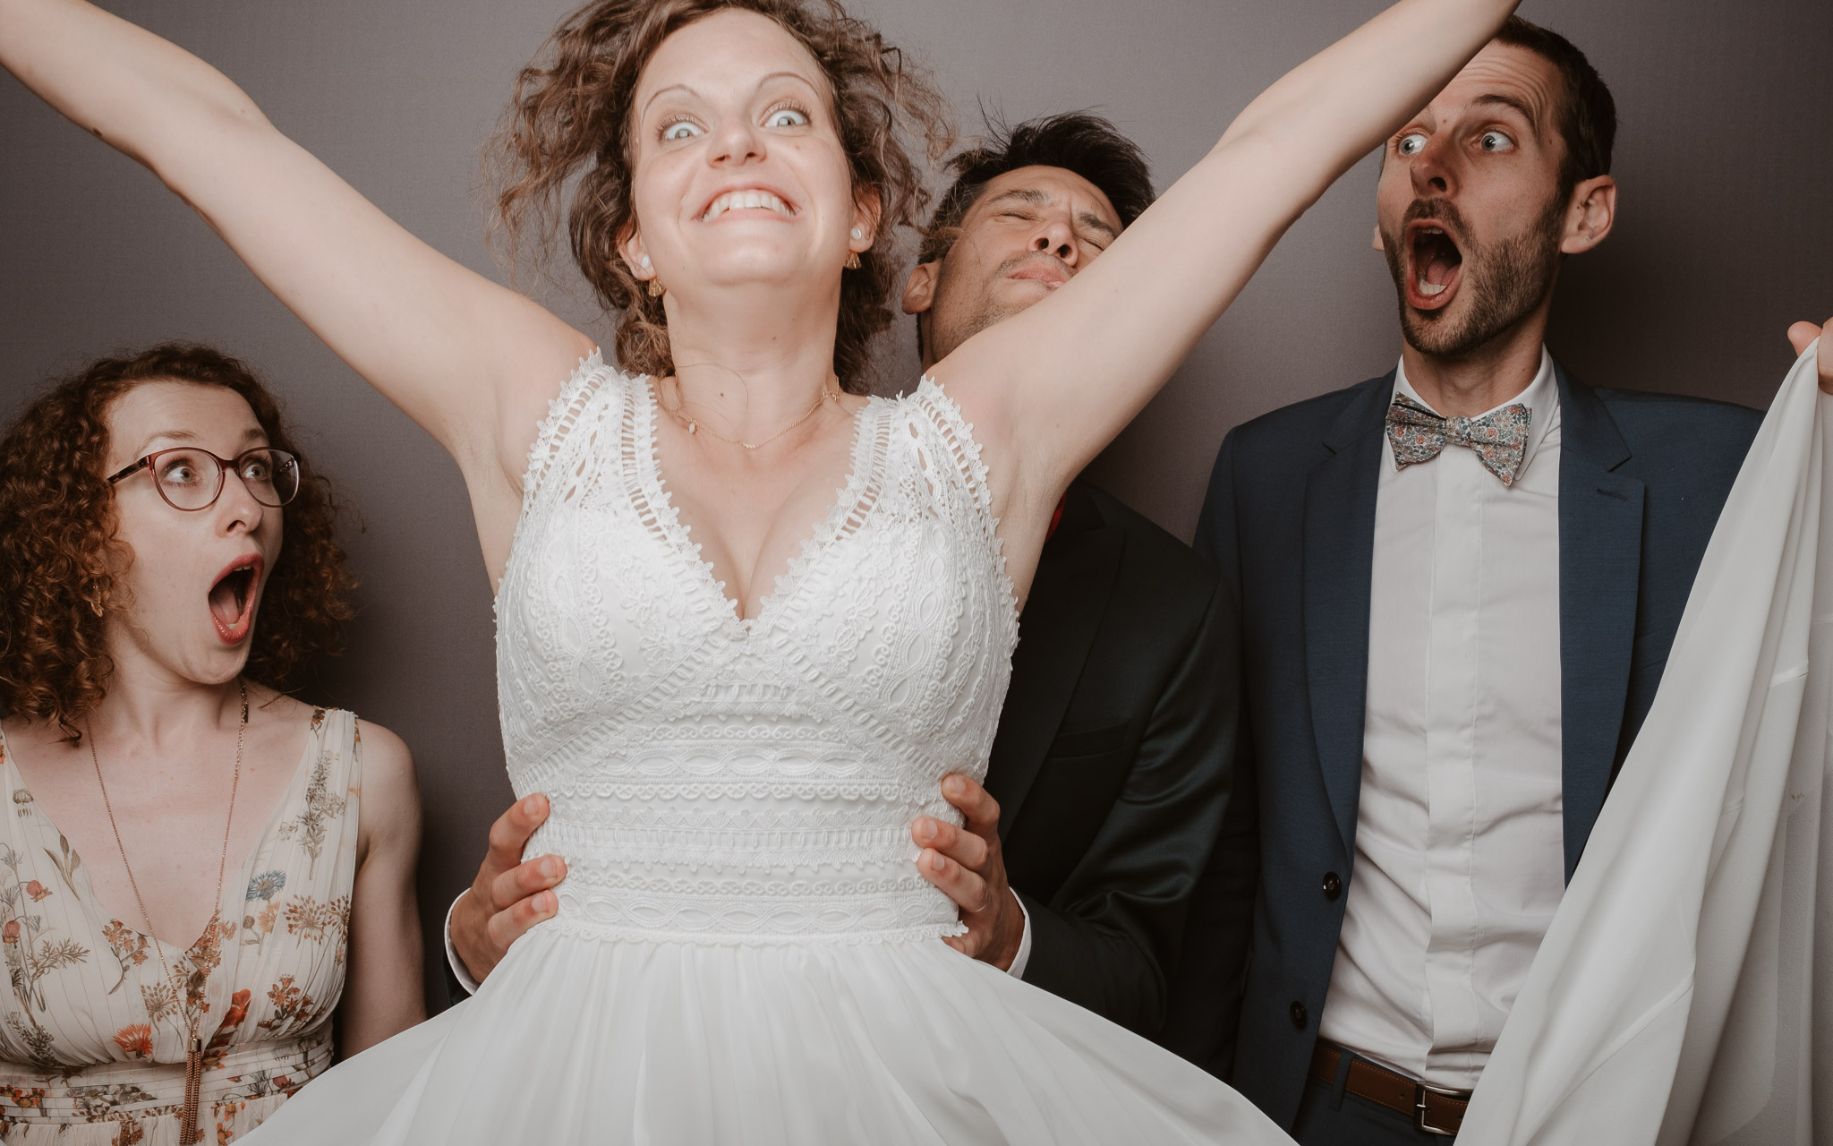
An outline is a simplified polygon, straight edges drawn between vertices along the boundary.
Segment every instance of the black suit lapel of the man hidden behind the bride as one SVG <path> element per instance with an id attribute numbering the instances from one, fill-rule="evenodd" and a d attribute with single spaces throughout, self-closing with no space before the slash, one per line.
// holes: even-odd
<path id="1" fill-rule="evenodd" d="M 1125 532 L 1102 519 L 1081 482 L 1063 497 L 1063 519 L 1045 543 L 1012 653 L 1012 686 L 999 713 L 986 790 L 999 801 L 999 834 L 1017 821 L 1045 752 L 1069 711 L 1089 647 L 1107 612 Z"/>

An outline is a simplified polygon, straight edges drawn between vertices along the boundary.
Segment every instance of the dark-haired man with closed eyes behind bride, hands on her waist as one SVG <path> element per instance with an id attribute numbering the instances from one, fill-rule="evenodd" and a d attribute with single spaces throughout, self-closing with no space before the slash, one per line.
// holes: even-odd
<path id="1" fill-rule="evenodd" d="M 904 293 L 927 370 L 1025 310 L 1151 204 L 1144 156 L 1113 125 L 1056 116 L 953 163 Z M 1153 1030 L 1169 955 L 1215 840 L 1234 752 L 1237 618 L 1197 556 L 1107 493 L 1072 482 L 1045 543 L 986 787 L 948 777 L 966 829 L 935 820 L 918 869 L 962 908 L 957 948 L 1109 1019 Z M 532 796 L 449 917 L 453 970 L 482 977 L 555 909 L 555 856 L 522 862 Z"/>

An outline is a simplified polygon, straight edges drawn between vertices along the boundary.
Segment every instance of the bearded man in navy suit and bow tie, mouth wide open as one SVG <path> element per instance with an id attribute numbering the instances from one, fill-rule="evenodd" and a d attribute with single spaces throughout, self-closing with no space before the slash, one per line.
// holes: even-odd
<path id="1" fill-rule="evenodd" d="M 1388 143 L 1400 365 L 1215 460 L 1245 759 L 1164 1038 L 1300 1142 L 1457 1129 L 1762 420 L 1545 350 L 1613 136 L 1586 57 L 1510 18 Z"/>

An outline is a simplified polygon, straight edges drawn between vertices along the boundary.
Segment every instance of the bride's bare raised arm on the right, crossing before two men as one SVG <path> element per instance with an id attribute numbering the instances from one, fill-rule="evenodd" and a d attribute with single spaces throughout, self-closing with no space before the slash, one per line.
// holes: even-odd
<path id="1" fill-rule="evenodd" d="M 1019 535 L 1041 543 L 1063 486 L 1158 392 L 1279 235 L 1510 11 L 1514 0 L 1395 4 L 1267 88 L 1100 260 L 937 363 L 992 451 L 995 501 Z"/>

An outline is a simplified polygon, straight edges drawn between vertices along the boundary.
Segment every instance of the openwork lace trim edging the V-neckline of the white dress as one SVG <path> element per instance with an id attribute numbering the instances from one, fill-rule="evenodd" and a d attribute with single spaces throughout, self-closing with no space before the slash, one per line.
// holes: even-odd
<path id="1" fill-rule="evenodd" d="M 631 446 L 642 449 L 642 457 L 634 458 L 640 484 L 656 491 L 653 499 L 653 530 L 664 545 L 680 554 L 697 570 L 700 592 L 708 594 L 717 616 L 735 625 L 737 633 L 748 636 L 764 629 L 764 622 L 774 620 L 781 612 L 781 603 L 796 594 L 808 567 L 823 552 L 830 550 L 841 535 L 851 532 L 847 526 L 858 530 L 863 523 L 863 490 L 882 462 L 882 451 L 873 447 L 874 435 L 871 431 L 882 416 L 880 407 L 884 402 L 880 398 L 867 398 L 865 405 L 854 411 L 847 477 L 841 480 L 834 502 L 810 524 L 810 532 L 803 537 L 801 546 L 790 554 L 770 592 L 757 598 L 757 612 L 742 616 L 744 603 L 726 594 L 726 583 L 719 579 L 713 563 L 700 556 L 700 545 L 693 539 L 693 526 L 682 523 L 680 512 L 675 508 L 675 497 L 669 493 L 667 479 L 662 477 L 662 457 L 656 451 L 656 414 L 662 407 L 656 402 L 653 381 L 649 376 L 638 380 L 636 389 L 643 394 L 643 425 L 631 435 Z"/>

